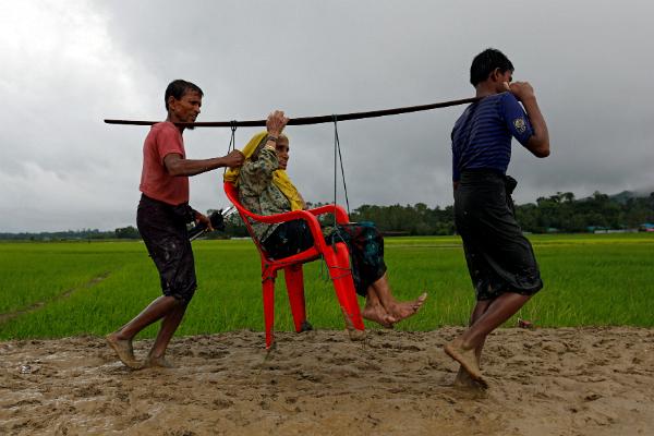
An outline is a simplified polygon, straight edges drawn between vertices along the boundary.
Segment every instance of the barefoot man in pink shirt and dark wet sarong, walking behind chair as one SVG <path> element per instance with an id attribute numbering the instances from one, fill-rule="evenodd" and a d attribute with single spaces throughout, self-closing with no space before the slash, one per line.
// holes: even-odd
<path id="1" fill-rule="evenodd" d="M 109 346 L 129 367 L 166 366 L 166 348 L 177 330 L 197 287 L 193 251 L 186 223 L 209 219 L 189 206 L 189 175 L 221 167 L 239 167 L 243 155 L 239 150 L 210 159 L 186 159 L 183 126 L 178 122 L 194 122 L 202 106 L 202 89 L 182 80 L 168 85 L 165 94 L 166 121 L 153 125 L 143 146 L 143 172 L 136 222 L 161 279 L 164 295 L 154 300 L 134 319 L 107 336 Z M 157 339 L 145 362 L 134 358 L 133 338 L 145 327 L 161 319 Z"/>

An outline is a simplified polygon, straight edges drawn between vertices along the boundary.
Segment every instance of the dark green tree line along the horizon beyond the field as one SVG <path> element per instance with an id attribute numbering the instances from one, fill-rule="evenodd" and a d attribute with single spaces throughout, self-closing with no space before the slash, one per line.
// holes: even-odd
<path id="1" fill-rule="evenodd" d="M 310 204 L 317 207 L 320 204 Z M 211 210 L 208 210 L 210 214 Z M 574 198 L 571 192 L 557 192 L 548 197 L 538 197 L 535 203 L 516 206 L 516 216 L 523 231 L 546 232 L 593 232 L 596 230 L 641 229 L 654 223 L 654 192 L 649 196 L 628 193 L 606 195 L 595 192 L 585 198 Z M 386 235 L 446 235 L 453 234 L 453 206 L 429 208 L 424 203 L 401 206 L 363 205 L 350 213 L 351 221 L 373 221 Z M 323 223 L 331 219 L 323 217 Z M 247 237 L 245 226 L 238 214 L 226 219 L 226 231 L 207 234 L 209 239 Z M 0 233 L 2 240 L 113 240 L 141 239 L 134 226 L 112 231 L 98 229 L 68 230 L 61 232 Z"/>

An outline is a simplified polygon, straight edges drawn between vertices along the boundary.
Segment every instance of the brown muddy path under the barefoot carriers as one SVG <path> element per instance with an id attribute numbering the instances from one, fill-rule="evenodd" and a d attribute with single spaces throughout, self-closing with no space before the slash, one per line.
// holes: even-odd
<path id="1" fill-rule="evenodd" d="M 101 338 L 0 342 L 0 434 L 652 434 L 654 330 L 500 329 L 486 391 L 452 386 L 460 331 L 282 332 L 270 354 L 262 332 L 174 338 L 177 367 L 142 371 Z"/>

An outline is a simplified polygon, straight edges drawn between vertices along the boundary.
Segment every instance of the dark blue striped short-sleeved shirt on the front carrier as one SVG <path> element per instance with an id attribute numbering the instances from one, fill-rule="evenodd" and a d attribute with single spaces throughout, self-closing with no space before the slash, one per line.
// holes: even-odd
<path id="1" fill-rule="evenodd" d="M 524 146 L 534 134 L 511 93 L 491 95 L 470 105 L 452 129 L 452 180 L 461 171 L 492 169 L 506 174 L 511 160 L 511 137 Z"/>

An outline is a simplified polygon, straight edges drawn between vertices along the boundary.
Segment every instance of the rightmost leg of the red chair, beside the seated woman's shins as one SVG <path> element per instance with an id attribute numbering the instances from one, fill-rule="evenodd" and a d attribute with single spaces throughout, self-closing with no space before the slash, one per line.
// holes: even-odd
<path id="1" fill-rule="evenodd" d="M 335 244 L 334 247 L 336 249 L 336 253 L 329 247 L 325 253 L 325 262 L 334 281 L 334 289 L 343 312 L 346 325 L 350 330 L 364 330 L 363 318 L 361 317 L 356 292 L 354 291 L 354 281 L 350 271 L 348 249 L 342 242 Z"/>

